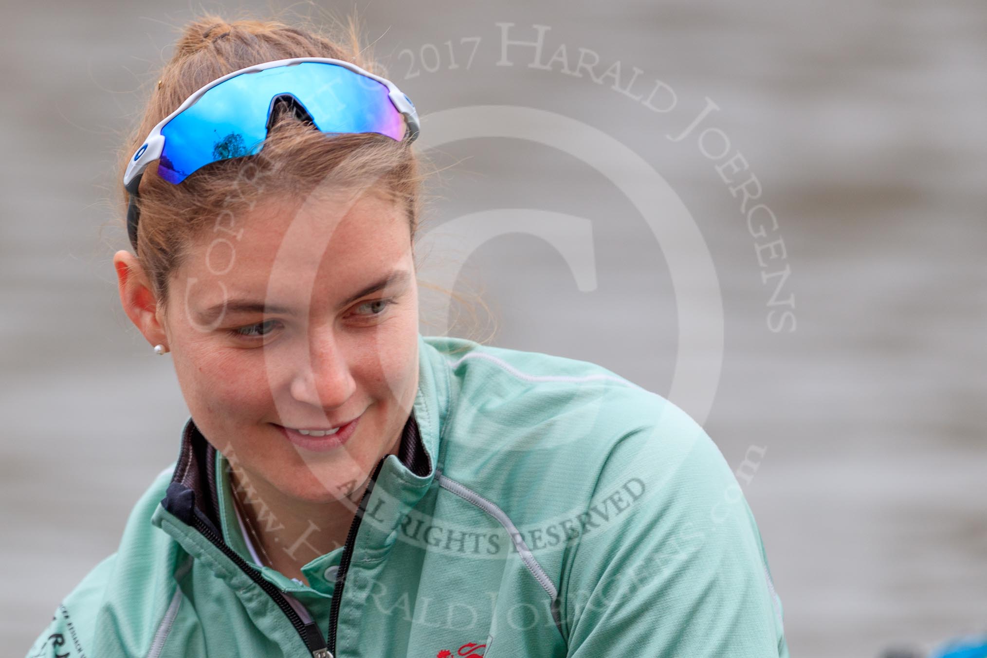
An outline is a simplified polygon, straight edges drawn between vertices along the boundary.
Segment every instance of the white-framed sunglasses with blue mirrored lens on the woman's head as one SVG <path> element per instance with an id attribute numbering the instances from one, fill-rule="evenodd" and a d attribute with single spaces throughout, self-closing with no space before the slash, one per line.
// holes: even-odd
<path id="1" fill-rule="evenodd" d="M 260 153 L 279 106 L 328 134 L 418 137 L 411 100 L 390 80 L 341 59 L 279 59 L 224 75 L 154 126 L 130 159 L 123 187 L 130 194 L 127 234 L 135 252 L 144 170 L 158 161 L 158 175 L 178 184 L 210 163 Z"/>

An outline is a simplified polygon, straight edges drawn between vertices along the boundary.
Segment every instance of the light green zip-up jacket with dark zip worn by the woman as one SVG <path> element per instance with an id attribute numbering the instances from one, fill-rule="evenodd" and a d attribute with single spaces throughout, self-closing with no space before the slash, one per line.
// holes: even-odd
<path id="1" fill-rule="evenodd" d="M 685 412 L 583 361 L 418 353 L 400 456 L 308 586 L 254 562 L 189 419 L 28 656 L 788 656 L 754 518 Z"/>

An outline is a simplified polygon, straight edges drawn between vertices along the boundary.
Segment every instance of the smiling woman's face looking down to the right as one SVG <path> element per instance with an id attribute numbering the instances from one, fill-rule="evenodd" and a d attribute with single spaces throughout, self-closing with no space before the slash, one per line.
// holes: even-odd
<path id="1" fill-rule="evenodd" d="M 408 219 L 349 194 L 218 218 L 172 277 L 163 323 L 202 434 L 248 476 L 310 502 L 350 494 L 394 452 L 418 389 Z M 285 429 L 353 419 L 321 438 Z"/>

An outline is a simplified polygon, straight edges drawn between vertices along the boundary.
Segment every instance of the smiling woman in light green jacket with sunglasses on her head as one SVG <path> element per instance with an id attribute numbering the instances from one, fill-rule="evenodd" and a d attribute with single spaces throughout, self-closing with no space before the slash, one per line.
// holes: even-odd
<path id="1" fill-rule="evenodd" d="M 698 424 L 418 333 L 418 116 L 359 52 L 205 17 L 164 68 L 114 267 L 190 419 L 29 655 L 788 655 Z"/>

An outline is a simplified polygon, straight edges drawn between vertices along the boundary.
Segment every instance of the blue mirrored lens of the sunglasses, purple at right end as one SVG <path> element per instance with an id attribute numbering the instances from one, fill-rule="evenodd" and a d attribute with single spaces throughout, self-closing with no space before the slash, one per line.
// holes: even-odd
<path id="1" fill-rule="evenodd" d="M 258 153 L 271 101 L 282 95 L 293 96 L 323 132 L 377 132 L 396 140 L 405 133 L 386 85 L 337 64 L 278 66 L 216 85 L 166 123 L 158 173 L 177 184 L 211 162 Z"/>

